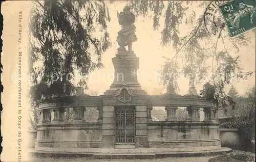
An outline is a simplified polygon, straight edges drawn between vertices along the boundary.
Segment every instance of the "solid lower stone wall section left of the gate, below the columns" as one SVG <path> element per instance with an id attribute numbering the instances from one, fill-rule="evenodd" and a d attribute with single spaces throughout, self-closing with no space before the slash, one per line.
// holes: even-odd
<path id="1" fill-rule="evenodd" d="M 35 149 L 99 152 L 101 140 L 101 123 L 50 123 L 38 125 Z"/>

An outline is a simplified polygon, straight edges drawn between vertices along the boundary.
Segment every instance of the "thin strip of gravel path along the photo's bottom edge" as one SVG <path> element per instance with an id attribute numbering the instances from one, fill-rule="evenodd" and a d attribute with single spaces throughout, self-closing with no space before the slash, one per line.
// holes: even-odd
<path id="1" fill-rule="evenodd" d="M 53 161 L 53 162 L 73 162 L 73 161 L 86 161 L 86 162 L 207 162 L 208 159 L 213 158 L 215 156 L 201 156 L 201 157 L 166 157 L 166 158 L 157 158 L 157 159 L 92 159 L 87 157 L 80 158 L 47 158 L 47 157 L 37 157 L 31 158 L 31 162 L 39 162 L 39 161 Z"/>

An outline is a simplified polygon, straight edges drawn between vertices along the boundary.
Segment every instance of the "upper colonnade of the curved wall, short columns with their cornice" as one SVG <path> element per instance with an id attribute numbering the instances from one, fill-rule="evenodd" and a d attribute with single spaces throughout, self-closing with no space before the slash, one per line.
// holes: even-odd
<path id="1" fill-rule="evenodd" d="M 58 99 L 47 99 L 39 103 L 41 113 L 41 123 L 49 123 L 49 111 L 53 110 L 53 121 L 63 122 L 63 112 L 65 108 L 74 107 L 75 121 L 83 121 L 83 114 L 86 107 L 98 107 L 99 119 L 102 121 L 102 106 L 120 105 L 147 105 L 147 119 L 152 120 L 151 111 L 153 106 L 165 106 L 166 121 L 177 121 L 176 110 L 178 106 L 187 107 L 188 121 L 200 122 L 200 108 L 204 111 L 204 122 L 215 122 L 217 107 L 214 103 L 199 96 L 180 96 L 180 95 L 136 95 L 129 103 L 122 103 L 116 96 L 70 96 Z M 48 110 L 48 111 L 47 111 Z"/>

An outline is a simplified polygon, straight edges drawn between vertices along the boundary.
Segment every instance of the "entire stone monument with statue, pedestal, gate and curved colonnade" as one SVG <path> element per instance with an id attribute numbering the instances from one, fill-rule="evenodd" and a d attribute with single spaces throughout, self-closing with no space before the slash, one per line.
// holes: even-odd
<path id="1" fill-rule="evenodd" d="M 197 95 L 194 86 L 190 85 L 187 96 L 178 95 L 173 84 L 167 86 L 166 95 L 148 95 L 142 90 L 137 79 L 139 58 L 132 51 L 132 42 L 137 40 L 135 16 L 125 6 L 118 18 L 122 26 L 117 36 L 120 47 L 112 58 L 115 77 L 110 89 L 103 95 L 89 96 L 82 87 L 77 87 L 74 96 L 41 101 L 35 150 L 91 152 L 94 157 L 150 153 L 147 156 L 155 157 L 156 152 L 220 149 L 219 125 L 213 122 L 217 106 L 200 96 L 191 96 Z M 155 106 L 165 107 L 166 121 L 152 120 L 151 111 Z M 98 120 L 88 122 L 84 111 L 93 107 L 97 107 Z M 177 119 L 178 107 L 187 107 L 187 121 Z M 200 122 L 200 107 L 204 107 L 204 122 Z M 64 120 L 64 112 L 70 108 L 74 112 L 72 123 Z"/>

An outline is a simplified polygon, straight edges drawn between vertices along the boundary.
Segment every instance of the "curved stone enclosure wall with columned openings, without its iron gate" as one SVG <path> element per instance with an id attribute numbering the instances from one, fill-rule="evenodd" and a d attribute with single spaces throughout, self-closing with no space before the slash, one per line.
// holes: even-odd
<path id="1" fill-rule="evenodd" d="M 131 93 L 129 102 L 111 95 L 70 96 L 47 99 L 39 103 L 40 123 L 35 149 L 67 152 L 115 152 L 115 110 L 135 110 L 135 144 L 143 152 L 201 151 L 220 149 L 219 126 L 215 122 L 217 107 L 199 96 Z M 153 106 L 165 106 L 166 121 L 153 122 Z M 97 107 L 98 122 L 86 122 L 84 112 Z M 187 107 L 189 119 L 177 121 L 178 107 Z M 73 122 L 64 120 L 66 108 L 73 108 Z M 199 111 L 204 120 L 200 122 Z M 53 113 L 53 114 L 52 114 Z"/>

